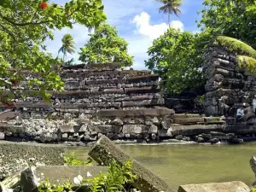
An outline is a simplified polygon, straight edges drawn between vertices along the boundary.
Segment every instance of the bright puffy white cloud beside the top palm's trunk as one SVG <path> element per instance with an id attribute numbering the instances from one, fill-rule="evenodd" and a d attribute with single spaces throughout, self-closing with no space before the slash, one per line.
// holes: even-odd
<path id="1" fill-rule="evenodd" d="M 164 34 L 164 32 L 166 32 L 169 28 L 168 24 L 166 23 L 151 25 L 150 15 L 148 15 L 146 12 L 142 12 L 140 15 L 136 15 L 132 22 L 136 24 L 137 32 L 150 39 L 159 38 L 160 35 Z M 183 31 L 183 23 L 179 20 L 172 20 L 170 25 L 173 28 L 181 29 Z"/>

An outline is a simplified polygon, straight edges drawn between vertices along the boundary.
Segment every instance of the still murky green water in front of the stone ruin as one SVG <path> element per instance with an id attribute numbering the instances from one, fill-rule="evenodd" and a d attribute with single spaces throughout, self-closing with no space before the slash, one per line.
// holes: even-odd
<path id="1" fill-rule="evenodd" d="M 256 180 L 249 164 L 256 154 L 256 143 L 120 147 L 176 189 L 181 184 L 228 181 L 242 181 L 252 186 Z M 69 148 L 68 154 L 85 160 L 88 150 Z"/>

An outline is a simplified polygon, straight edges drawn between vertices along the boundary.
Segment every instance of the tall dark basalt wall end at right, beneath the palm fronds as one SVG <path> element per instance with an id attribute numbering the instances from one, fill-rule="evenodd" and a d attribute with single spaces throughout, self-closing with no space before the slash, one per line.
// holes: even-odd
<path id="1" fill-rule="evenodd" d="M 236 116 L 236 109 L 252 104 L 256 95 L 256 79 L 244 67 L 238 67 L 236 53 L 212 46 L 205 60 L 205 113 L 207 115 Z"/>

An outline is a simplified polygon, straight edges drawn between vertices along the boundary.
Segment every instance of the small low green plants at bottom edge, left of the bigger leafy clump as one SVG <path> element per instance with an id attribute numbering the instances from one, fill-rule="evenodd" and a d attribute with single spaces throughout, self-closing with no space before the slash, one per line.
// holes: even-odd
<path id="1" fill-rule="evenodd" d="M 70 192 L 72 191 L 72 183 L 67 181 L 63 184 L 51 184 L 49 182 L 49 179 L 47 179 L 45 182 L 40 183 L 38 186 L 38 192 Z"/>

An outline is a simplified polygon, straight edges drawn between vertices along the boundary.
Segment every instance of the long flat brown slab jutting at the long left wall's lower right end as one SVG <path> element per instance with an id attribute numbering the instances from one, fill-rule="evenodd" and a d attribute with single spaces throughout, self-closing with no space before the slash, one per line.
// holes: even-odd
<path id="1" fill-rule="evenodd" d="M 156 117 L 173 115 L 169 108 L 141 108 L 141 109 L 102 109 L 97 113 L 100 117 Z"/>

